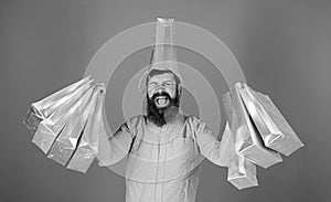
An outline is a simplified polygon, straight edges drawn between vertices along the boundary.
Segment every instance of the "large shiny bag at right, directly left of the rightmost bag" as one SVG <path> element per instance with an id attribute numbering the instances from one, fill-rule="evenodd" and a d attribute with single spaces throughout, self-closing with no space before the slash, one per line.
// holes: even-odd
<path id="1" fill-rule="evenodd" d="M 265 147 L 256 126 L 254 125 L 239 95 L 241 83 L 231 88 L 232 110 L 235 117 L 232 132 L 235 140 L 235 149 L 247 160 L 263 168 L 268 168 L 281 162 L 281 156 Z"/>

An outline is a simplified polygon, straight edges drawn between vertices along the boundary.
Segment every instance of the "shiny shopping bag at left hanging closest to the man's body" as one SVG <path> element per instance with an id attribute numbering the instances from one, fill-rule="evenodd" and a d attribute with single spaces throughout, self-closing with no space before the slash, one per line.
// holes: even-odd
<path id="1" fill-rule="evenodd" d="M 95 108 L 88 116 L 79 145 L 67 164 L 68 169 L 85 173 L 98 152 L 99 135 L 105 131 L 103 120 L 105 94 L 105 86 L 100 85 L 100 87 L 97 88 Z"/>

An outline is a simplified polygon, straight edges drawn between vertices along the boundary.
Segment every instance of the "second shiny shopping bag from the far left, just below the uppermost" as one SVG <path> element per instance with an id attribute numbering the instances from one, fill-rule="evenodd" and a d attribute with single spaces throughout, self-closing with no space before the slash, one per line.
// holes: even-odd
<path id="1" fill-rule="evenodd" d="M 88 95 L 93 88 L 92 83 L 81 86 L 73 92 L 70 98 L 58 106 L 52 115 L 39 123 L 32 142 L 35 143 L 44 153 L 47 153 L 55 138 L 63 129 L 74 111 L 81 107 L 82 97 Z"/>

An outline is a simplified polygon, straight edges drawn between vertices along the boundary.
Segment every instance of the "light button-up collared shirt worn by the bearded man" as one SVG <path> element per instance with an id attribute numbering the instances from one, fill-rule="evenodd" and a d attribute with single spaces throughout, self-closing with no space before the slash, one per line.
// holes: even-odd
<path id="1" fill-rule="evenodd" d="M 99 166 L 110 166 L 126 157 L 126 202 L 194 202 L 202 160 L 225 166 L 234 155 L 224 137 L 220 141 L 194 116 L 179 113 L 158 127 L 138 115 L 113 137 L 100 137 L 97 158 Z"/>

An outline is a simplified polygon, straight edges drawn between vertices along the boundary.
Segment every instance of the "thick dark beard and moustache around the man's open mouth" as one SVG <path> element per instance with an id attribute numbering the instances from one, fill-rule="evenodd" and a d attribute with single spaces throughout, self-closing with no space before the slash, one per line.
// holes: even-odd
<path id="1" fill-rule="evenodd" d="M 153 95 L 151 98 L 149 98 L 147 95 L 147 118 L 159 127 L 171 123 L 179 111 L 180 95 L 178 92 L 179 91 L 177 88 L 174 98 L 171 98 L 167 93 L 167 95 L 164 94 L 169 99 L 169 105 L 164 108 L 158 108 L 156 106 L 156 95 Z"/>

